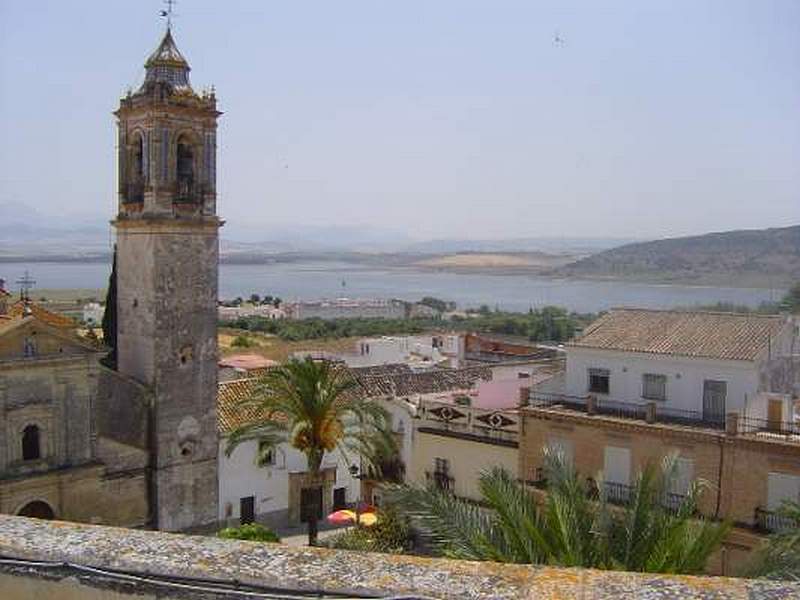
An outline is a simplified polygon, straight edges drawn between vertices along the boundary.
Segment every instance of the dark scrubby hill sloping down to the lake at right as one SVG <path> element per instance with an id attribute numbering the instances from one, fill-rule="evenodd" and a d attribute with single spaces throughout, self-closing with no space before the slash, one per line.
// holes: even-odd
<path id="1" fill-rule="evenodd" d="M 697 285 L 788 287 L 800 281 L 800 225 L 626 244 L 549 274 Z"/>

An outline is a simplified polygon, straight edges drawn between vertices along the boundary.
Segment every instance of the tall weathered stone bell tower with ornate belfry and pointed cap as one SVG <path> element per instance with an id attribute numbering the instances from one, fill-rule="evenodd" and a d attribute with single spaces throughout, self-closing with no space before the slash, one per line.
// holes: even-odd
<path id="1" fill-rule="evenodd" d="M 120 100 L 117 368 L 150 387 L 154 525 L 217 519 L 217 111 L 167 28 Z"/>

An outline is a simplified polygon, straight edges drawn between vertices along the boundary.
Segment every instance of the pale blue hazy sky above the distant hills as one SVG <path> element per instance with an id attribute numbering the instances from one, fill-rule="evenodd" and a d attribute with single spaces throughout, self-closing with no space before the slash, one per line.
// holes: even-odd
<path id="1" fill-rule="evenodd" d="M 141 82 L 161 8 L 0 0 L 0 206 L 111 215 L 111 111 Z M 225 112 L 231 223 L 491 238 L 800 222 L 797 0 L 177 12 L 192 83 L 216 85 Z"/>

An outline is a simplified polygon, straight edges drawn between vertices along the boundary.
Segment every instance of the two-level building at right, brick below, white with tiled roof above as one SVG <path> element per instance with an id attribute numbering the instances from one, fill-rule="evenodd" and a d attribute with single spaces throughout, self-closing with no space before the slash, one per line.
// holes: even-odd
<path id="1" fill-rule="evenodd" d="M 625 504 L 646 465 L 674 456 L 663 501 L 705 482 L 700 513 L 735 525 L 709 568 L 741 573 L 800 501 L 797 390 L 772 376 L 798 366 L 796 335 L 783 316 L 610 311 L 567 345 L 561 389 L 534 386 L 521 409 L 520 479 L 546 489 L 550 448 Z"/>

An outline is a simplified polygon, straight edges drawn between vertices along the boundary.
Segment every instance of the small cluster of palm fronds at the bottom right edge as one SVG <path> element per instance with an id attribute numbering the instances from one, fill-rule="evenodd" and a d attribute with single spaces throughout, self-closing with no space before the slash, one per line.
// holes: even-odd
<path id="1" fill-rule="evenodd" d="M 748 575 L 800 581 L 800 502 L 785 501 L 778 515 L 782 527 L 769 536 Z"/>

